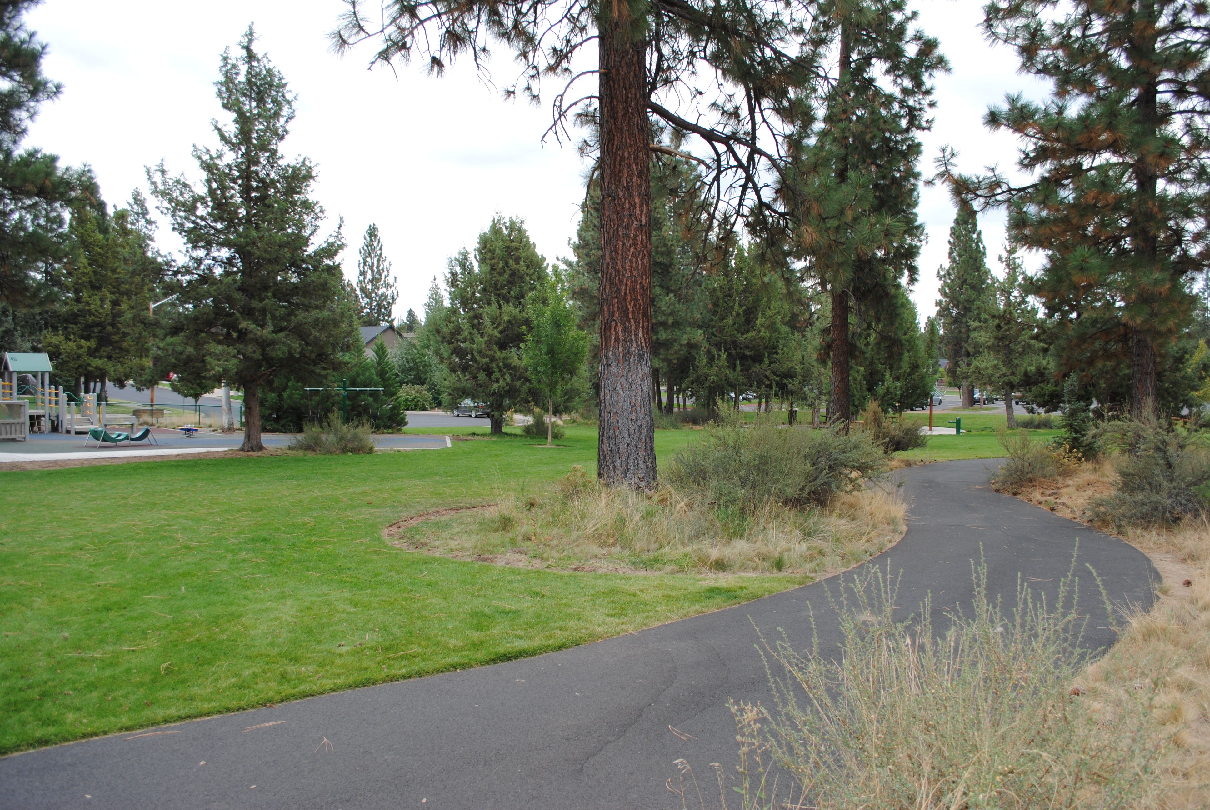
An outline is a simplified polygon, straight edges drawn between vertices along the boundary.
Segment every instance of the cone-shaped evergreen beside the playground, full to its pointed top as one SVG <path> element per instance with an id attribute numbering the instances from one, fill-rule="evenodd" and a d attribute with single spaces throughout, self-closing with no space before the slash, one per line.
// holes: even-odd
<path id="1" fill-rule="evenodd" d="M 218 99 L 231 123 L 214 122 L 218 149 L 195 147 L 201 188 L 148 171 L 160 211 L 185 242 L 179 312 L 169 324 L 172 368 L 198 387 L 243 389 L 244 437 L 259 452 L 260 389 L 286 373 L 335 370 L 356 345 L 355 312 L 341 289 L 339 230 L 317 242 L 323 208 L 309 195 L 315 166 L 282 155 L 294 97 L 282 74 L 253 50 L 249 27 L 224 51 Z"/>

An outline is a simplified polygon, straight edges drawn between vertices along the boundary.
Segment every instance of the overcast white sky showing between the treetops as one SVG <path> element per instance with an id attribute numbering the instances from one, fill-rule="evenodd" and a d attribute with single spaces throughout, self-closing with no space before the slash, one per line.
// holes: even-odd
<path id="1" fill-rule="evenodd" d="M 963 168 L 1010 163 L 1014 143 L 981 123 L 1006 92 L 1038 86 L 1016 74 L 1014 56 L 979 33 L 976 0 L 915 0 L 921 27 L 941 41 L 952 73 L 937 80 L 937 122 L 924 134 L 923 171 L 930 174 L 941 144 L 960 151 Z M 209 0 L 206 4 L 128 0 L 46 0 L 29 24 L 50 44 L 46 73 L 65 85 L 44 107 L 29 145 L 90 163 L 110 203 L 146 193 L 144 167 L 163 159 L 172 172 L 197 177 L 192 144 L 213 144 L 211 119 L 219 53 L 249 22 L 298 94 L 287 154 L 307 155 L 319 168 L 317 197 L 333 226 L 345 219 L 345 275 L 357 275 L 357 247 L 369 223 L 382 234 L 399 283 L 397 317 L 421 310 L 428 283 L 445 259 L 476 236 L 494 213 L 525 219 L 538 251 L 554 260 L 570 253 L 584 165 L 572 144 L 540 138 L 546 107 L 505 102 L 468 64 L 444 77 L 404 67 L 365 69 L 369 51 L 339 58 L 327 34 L 339 0 Z M 513 64 L 496 67 L 500 84 Z M 929 242 L 914 298 L 922 317 L 934 310 L 937 268 L 945 262 L 953 207 L 941 188 L 926 188 L 921 219 Z M 1003 243 L 1003 216 L 983 217 L 992 268 Z M 160 243 L 179 246 L 167 226 Z"/>

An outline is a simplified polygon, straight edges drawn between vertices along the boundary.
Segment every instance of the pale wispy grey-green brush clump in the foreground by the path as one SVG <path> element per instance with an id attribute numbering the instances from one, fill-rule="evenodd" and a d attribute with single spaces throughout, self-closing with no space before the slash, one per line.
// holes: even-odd
<path id="1" fill-rule="evenodd" d="M 774 705 L 732 705 L 745 810 L 814 808 L 1136 808 L 1154 792 L 1147 694 L 1100 723 L 1071 689 L 1088 662 L 1074 582 L 1058 604 L 1019 587 L 1018 607 L 989 599 L 975 571 L 973 609 L 941 633 L 929 605 L 895 622 L 895 586 L 875 570 L 842 590 L 842 654 L 766 644 Z M 794 779 L 778 799 L 771 774 Z"/>

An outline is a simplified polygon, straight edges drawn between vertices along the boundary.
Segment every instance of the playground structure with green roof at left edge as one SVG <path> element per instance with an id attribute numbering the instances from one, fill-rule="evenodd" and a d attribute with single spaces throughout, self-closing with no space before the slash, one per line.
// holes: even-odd
<path id="1" fill-rule="evenodd" d="M 93 427 L 134 424 L 133 417 L 106 417 L 105 403 L 98 404 L 96 393 L 77 398 L 64 391 L 62 385 L 52 386 L 52 370 L 48 355 L 4 354 L 0 364 L 0 438 L 24 441 L 29 432 L 75 435 L 87 433 Z M 23 413 L 18 415 L 18 410 Z"/>

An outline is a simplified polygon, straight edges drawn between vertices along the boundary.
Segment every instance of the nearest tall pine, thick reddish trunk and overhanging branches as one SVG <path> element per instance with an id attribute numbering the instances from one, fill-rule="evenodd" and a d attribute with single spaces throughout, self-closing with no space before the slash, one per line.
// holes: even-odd
<path id="1" fill-rule="evenodd" d="M 714 156 L 713 189 L 726 216 L 778 216 L 779 148 L 794 127 L 795 93 L 818 77 L 813 0 L 346 0 L 341 47 L 373 39 L 376 62 L 420 56 L 439 73 L 459 54 L 479 61 L 492 40 L 523 64 L 519 91 L 558 82 L 557 134 L 570 116 L 599 123 L 601 183 L 600 440 L 610 484 L 656 481 L 651 379 L 649 115 L 697 138 Z M 597 70 L 582 70 L 595 47 Z M 574 85 L 595 76 L 598 87 Z"/>

